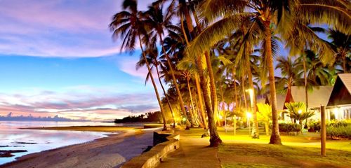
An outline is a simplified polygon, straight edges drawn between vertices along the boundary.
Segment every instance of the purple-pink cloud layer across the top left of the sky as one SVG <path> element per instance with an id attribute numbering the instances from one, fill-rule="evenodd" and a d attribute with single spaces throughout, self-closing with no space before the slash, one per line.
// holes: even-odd
<path id="1" fill-rule="evenodd" d="M 151 0 L 140 2 L 151 2 Z M 100 57 L 119 53 L 108 25 L 121 1 L 2 0 L 0 53 L 39 57 Z M 1 42 L 4 41 L 4 42 Z M 20 46 L 20 47 L 19 47 Z"/>

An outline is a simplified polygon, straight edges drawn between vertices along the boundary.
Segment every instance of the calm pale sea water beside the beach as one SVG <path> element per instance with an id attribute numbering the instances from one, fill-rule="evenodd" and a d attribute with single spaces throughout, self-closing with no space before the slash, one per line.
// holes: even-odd
<path id="1" fill-rule="evenodd" d="M 0 121 L 0 150 L 27 150 L 13 153 L 11 158 L 0 158 L 0 165 L 15 158 L 48 149 L 80 144 L 93 139 L 107 137 L 111 132 L 81 132 L 55 130 L 20 130 L 20 127 L 62 127 L 82 125 L 116 125 L 100 122 L 48 122 L 48 121 Z M 31 144 L 35 143 L 35 144 Z"/>

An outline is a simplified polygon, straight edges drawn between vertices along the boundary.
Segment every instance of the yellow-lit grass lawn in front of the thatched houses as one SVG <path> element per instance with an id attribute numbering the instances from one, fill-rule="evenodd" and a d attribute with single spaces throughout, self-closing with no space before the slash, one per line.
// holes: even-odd
<path id="1" fill-rule="evenodd" d="M 249 130 L 225 133 L 218 127 L 223 145 L 218 158 L 223 167 L 350 167 L 351 141 L 327 141 L 326 157 L 320 155 L 319 134 L 304 132 L 282 136 L 283 146 L 268 144 L 270 137 L 260 130 L 260 139 L 251 139 Z M 190 134 L 190 136 L 192 136 Z"/>

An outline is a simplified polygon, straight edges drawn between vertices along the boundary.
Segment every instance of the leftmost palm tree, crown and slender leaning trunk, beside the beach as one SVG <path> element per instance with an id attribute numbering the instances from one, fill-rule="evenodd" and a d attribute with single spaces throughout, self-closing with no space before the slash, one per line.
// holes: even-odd
<path id="1" fill-rule="evenodd" d="M 126 50 L 134 50 L 135 41 L 139 41 L 140 49 L 143 53 L 147 70 L 150 73 L 150 78 L 152 81 L 152 85 L 154 86 L 157 102 L 159 103 L 159 107 L 161 110 L 162 120 L 164 122 L 164 130 L 167 130 L 164 108 L 159 97 L 159 92 L 157 90 L 156 83 L 154 82 L 154 78 L 152 76 L 150 64 L 149 62 L 147 62 L 147 57 L 145 55 L 145 51 L 143 50 L 142 36 L 147 38 L 147 30 L 144 27 L 145 22 L 143 20 L 144 13 L 138 11 L 137 6 L 138 3 L 135 0 L 124 0 L 122 4 L 124 11 L 121 11 L 113 16 L 112 22 L 110 23 L 110 29 L 113 31 L 114 38 L 118 38 L 119 36 L 123 38 L 121 50 L 123 48 L 125 48 Z"/>

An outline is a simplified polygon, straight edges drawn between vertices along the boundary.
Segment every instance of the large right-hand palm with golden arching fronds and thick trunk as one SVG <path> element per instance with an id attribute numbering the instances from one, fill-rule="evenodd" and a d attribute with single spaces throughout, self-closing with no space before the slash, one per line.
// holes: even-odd
<path id="1" fill-rule="evenodd" d="M 282 144 L 278 128 L 277 97 L 274 80 L 274 64 L 272 57 L 272 31 L 277 30 L 284 38 L 291 36 L 291 32 L 300 32 L 305 40 L 313 41 L 314 32 L 303 31 L 305 25 L 326 23 L 340 31 L 350 31 L 350 14 L 347 11 L 349 2 L 338 0 L 326 1 L 227 1 L 208 0 L 204 1 L 202 15 L 211 24 L 195 38 L 188 46 L 190 55 L 201 55 L 212 45 L 220 41 L 227 34 L 232 33 L 241 26 L 241 22 L 251 20 L 248 34 L 258 34 L 262 37 L 262 43 L 267 59 L 267 68 L 270 81 L 271 104 L 272 104 L 272 135 L 270 144 Z M 323 8 L 324 10 L 320 10 Z M 218 19 L 219 18 L 219 19 Z M 298 36 L 298 34 L 293 34 Z M 302 39 L 302 38 L 301 38 Z M 324 43 L 324 41 L 323 41 Z M 322 41 L 309 43 L 315 48 L 326 46 Z M 300 45 L 301 46 L 301 45 Z M 325 48 L 322 48 L 325 49 Z M 324 50 L 321 52 L 326 53 Z M 324 61 L 330 59 L 330 55 L 324 55 Z"/>

